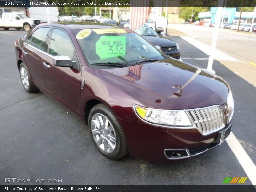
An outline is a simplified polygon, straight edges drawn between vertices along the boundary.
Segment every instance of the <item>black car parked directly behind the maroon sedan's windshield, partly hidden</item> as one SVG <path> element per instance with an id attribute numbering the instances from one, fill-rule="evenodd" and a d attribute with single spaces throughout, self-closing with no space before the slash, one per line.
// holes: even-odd
<path id="1" fill-rule="evenodd" d="M 142 25 L 140 28 L 136 29 L 135 32 L 143 36 L 144 39 L 153 45 L 159 46 L 159 49 L 161 49 L 164 54 L 170 55 L 176 59 L 180 59 L 181 50 L 177 42 L 165 36 L 159 35 L 147 25 Z"/>

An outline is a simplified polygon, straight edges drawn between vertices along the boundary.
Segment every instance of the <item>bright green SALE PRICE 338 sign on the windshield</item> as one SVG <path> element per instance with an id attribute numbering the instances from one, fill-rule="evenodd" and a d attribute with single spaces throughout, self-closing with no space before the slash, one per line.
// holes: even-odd
<path id="1" fill-rule="evenodd" d="M 95 46 L 100 59 L 122 56 L 125 55 L 126 36 L 101 36 Z"/>

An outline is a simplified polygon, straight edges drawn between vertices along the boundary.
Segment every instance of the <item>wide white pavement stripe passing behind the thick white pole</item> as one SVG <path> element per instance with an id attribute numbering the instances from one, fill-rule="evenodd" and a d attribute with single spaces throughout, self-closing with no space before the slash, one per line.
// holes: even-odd
<path id="1" fill-rule="evenodd" d="M 187 41 L 188 43 L 195 46 L 196 48 L 200 49 L 202 52 L 204 52 L 207 55 L 210 55 L 210 53 L 213 52 L 213 58 L 216 60 L 239 61 L 236 58 L 231 57 L 222 51 L 219 51 L 217 49 L 212 50 L 212 47 L 210 45 L 202 43 L 201 41 L 196 40 L 194 37 L 190 37 L 190 36 L 180 36 L 180 37 L 185 41 Z"/>

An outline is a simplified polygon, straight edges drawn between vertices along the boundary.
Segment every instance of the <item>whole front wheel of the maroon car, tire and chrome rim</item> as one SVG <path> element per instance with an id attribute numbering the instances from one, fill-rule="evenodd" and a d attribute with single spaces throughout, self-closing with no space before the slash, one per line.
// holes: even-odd
<path id="1" fill-rule="evenodd" d="M 107 126 L 105 126 L 106 119 L 108 120 Z M 106 105 L 98 104 L 91 109 L 89 129 L 93 143 L 102 155 L 109 159 L 120 159 L 128 154 L 122 127 L 114 113 Z"/>

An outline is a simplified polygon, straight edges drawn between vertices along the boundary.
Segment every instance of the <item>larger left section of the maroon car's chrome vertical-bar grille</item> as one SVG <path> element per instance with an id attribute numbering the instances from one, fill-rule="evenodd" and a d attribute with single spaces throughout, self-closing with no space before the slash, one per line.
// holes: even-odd
<path id="1" fill-rule="evenodd" d="M 225 116 L 219 105 L 186 111 L 190 121 L 203 134 L 208 135 L 225 127 Z"/>

